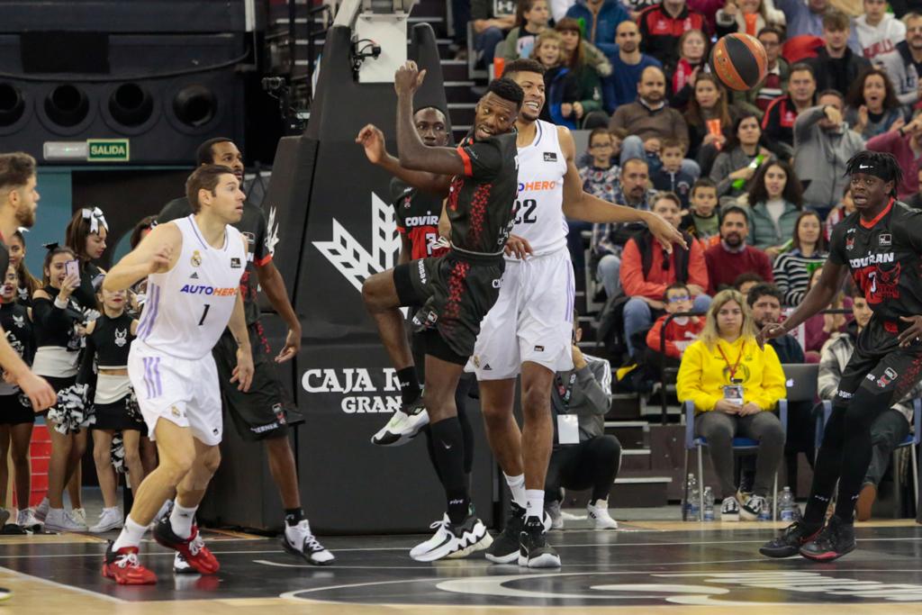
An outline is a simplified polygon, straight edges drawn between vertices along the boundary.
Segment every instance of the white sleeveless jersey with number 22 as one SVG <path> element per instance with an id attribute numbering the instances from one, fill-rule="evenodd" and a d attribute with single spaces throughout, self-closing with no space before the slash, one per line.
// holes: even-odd
<path id="1" fill-rule="evenodd" d="M 563 217 L 567 160 L 557 138 L 557 126 L 542 120 L 536 125 L 535 140 L 518 150 L 518 209 L 513 234 L 524 237 L 534 254 L 541 255 L 567 245 L 567 220 Z"/>

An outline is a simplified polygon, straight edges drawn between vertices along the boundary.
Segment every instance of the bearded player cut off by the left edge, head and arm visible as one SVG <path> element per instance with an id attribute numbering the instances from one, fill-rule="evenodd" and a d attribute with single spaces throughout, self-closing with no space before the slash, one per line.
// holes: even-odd
<path id="1" fill-rule="evenodd" d="M 0 154 L 0 271 L 9 268 L 6 238 L 12 237 L 20 227 L 30 229 L 35 224 L 35 210 L 39 207 L 40 198 L 35 186 L 34 158 L 22 152 Z M 9 345 L 2 328 L 0 367 L 6 379 L 18 384 L 29 397 L 36 412 L 51 408 L 57 401 L 52 385 L 31 372 L 29 365 Z M 27 504 L 19 505 L 25 507 Z"/>

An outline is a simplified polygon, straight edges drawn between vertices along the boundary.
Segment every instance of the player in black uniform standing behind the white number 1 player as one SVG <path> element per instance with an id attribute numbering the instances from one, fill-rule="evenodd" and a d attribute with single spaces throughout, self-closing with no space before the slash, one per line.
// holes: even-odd
<path id="1" fill-rule="evenodd" d="M 208 139 L 198 148 L 198 164 L 225 164 L 231 167 L 237 181 L 243 183 L 243 156 L 233 141 L 224 137 Z M 186 197 L 173 199 L 160 211 L 157 222 L 162 224 L 173 219 L 184 218 L 192 213 Z M 272 261 L 272 248 L 268 236 L 266 216 L 260 207 L 243 203 L 243 217 L 233 224 L 243 233 L 248 242 L 246 268 L 240 281 L 243 296 L 243 312 L 246 315 L 247 330 L 253 348 L 255 372 L 253 386 L 249 391 L 240 391 L 231 384 L 231 373 L 236 362 L 237 344 L 230 329 L 224 331 L 218 345 L 213 349 L 218 365 L 221 393 L 226 401 L 225 409 L 231 415 L 231 422 L 237 433 L 247 441 L 265 442 L 269 470 L 278 487 L 282 507 L 285 511 L 285 531 L 282 533 L 282 547 L 303 558 L 305 562 L 327 565 L 334 562 L 332 553 L 314 538 L 311 525 L 301 508 L 301 492 L 298 489 L 298 472 L 289 444 L 288 417 L 285 395 L 278 382 L 269 343 L 259 322 L 257 296 L 262 288 L 272 307 L 289 327 L 285 348 L 275 357 L 276 363 L 290 361 L 301 349 L 301 321 L 291 307 L 285 280 Z M 176 554 L 173 568 L 177 573 L 189 572 L 181 553 Z"/>

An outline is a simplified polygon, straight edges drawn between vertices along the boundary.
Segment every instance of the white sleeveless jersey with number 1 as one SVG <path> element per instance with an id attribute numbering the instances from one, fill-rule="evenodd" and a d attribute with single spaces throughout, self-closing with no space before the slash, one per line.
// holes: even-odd
<path id="1" fill-rule="evenodd" d="M 246 253 L 241 232 L 231 226 L 224 245 L 213 248 L 193 216 L 172 223 L 183 232 L 183 251 L 170 271 L 148 276 L 137 339 L 172 357 L 197 360 L 211 352 L 231 320 Z"/>

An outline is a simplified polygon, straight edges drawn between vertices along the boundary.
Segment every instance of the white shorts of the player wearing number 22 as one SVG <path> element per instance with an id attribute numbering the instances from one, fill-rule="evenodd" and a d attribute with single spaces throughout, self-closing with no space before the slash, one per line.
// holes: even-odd
<path id="1" fill-rule="evenodd" d="M 506 261 L 500 297 L 491 307 L 467 361 L 478 380 L 514 378 L 532 361 L 551 372 L 573 369 L 573 263 L 561 250 Z"/>

